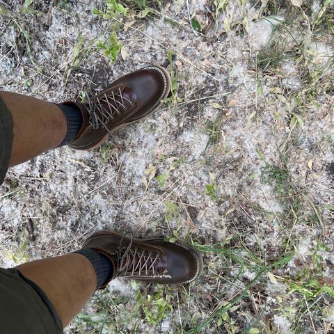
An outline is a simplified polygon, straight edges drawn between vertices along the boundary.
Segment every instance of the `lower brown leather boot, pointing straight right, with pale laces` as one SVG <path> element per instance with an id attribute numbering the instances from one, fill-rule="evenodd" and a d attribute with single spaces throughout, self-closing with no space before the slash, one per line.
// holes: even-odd
<path id="1" fill-rule="evenodd" d="M 88 237 L 83 248 L 92 248 L 109 257 L 113 264 L 110 280 L 127 277 L 148 283 L 186 284 L 198 278 L 203 269 L 197 250 L 164 238 L 134 239 L 132 233 L 122 235 L 102 230 Z"/>

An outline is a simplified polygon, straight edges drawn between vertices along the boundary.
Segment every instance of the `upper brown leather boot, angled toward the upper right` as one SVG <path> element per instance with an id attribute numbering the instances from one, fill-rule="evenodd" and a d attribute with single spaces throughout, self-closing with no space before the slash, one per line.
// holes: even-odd
<path id="1" fill-rule="evenodd" d="M 164 67 L 150 66 L 121 77 L 87 103 L 67 101 L 82 113 L 83 125 L 72 143 L 76 150 L 102 145 L 112 132 L 150 115 L 170 92 Z"/>

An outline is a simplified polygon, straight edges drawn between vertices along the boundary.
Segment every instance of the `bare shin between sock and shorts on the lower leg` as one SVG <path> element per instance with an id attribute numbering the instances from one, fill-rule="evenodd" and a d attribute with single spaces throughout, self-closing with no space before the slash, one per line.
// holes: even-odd
<path id="1" fill-rule="evenodd" d="M 94 268 L 80 254 L 28 262 L 17 269 L 43 290 L 64 327 L 80 312 L 96 289 Z"/>

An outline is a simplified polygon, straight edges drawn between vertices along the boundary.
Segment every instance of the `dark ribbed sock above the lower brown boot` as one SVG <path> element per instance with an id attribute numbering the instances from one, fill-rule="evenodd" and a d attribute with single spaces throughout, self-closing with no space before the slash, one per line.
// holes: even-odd
<path id="1" fill-rule="evenodd" d="M 96 289 L 100 289 L 106 280 L 109 280 L 113 275 L 113 264 L 106 255 L 97 253 L 93 249 L 79 249 L 73 253 L 84 255 L 93 265 L 96 275 Z"/>

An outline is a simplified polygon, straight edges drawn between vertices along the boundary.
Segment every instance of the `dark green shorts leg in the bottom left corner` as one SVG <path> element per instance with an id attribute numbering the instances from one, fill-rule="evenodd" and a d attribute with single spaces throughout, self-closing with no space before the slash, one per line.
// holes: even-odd
<path id="1" fill-rule="evenodd" d="M 0 268 L 0 333 L 63 333 L 61 321 L 45 293 L 17 269 Z"/>

